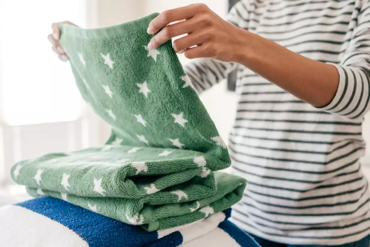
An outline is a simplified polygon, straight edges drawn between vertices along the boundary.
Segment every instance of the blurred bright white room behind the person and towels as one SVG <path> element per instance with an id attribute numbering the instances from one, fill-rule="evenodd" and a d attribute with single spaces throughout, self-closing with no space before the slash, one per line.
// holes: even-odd
<path id="1" fill-rule="evenodd" d="M 103 144 L 110 128 L 82 101 L 68 63 L 51 51 L 53 22 L 97 28 L 154 12 L 205 3 L 226 17 L 234 0 L 0 0 L 0 205 L 27 199 L 10 178 L 11 166 L 46 152 Z M 183 64 L 189 62 L 179 55 Z M 229 80 L 229 88 L 230 83 Z M 225 80 L 200 97 L 227 142 L 238 97 Z M 370 142 L 367 116 L 363 132 Z M 370 145 L 369 145 L 370 146 Z M 370 148 L 363 169 L 370 177 Z"/>

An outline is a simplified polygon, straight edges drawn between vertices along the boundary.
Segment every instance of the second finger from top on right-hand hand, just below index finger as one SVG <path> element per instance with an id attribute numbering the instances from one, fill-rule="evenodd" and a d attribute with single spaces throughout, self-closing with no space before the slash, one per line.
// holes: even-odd
<path id="1" fill-rule="evenodd" d="M 149 49 L 156 49 L 158 46 L 172 39 L 186 33 L 192 33 L 199 29 L 199 23 L 195 18 L 165 26 L 159 33 L 155 34 L 148 44 Z"/>

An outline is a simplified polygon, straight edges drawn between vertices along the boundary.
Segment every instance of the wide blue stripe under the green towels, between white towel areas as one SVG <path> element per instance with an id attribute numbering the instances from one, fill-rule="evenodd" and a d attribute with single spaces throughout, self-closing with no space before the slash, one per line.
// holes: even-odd
<path id="1" fill-rule="evenodd" d="M 83 238 L 90 247 L 138 247 L 158 239 L 156 231 L 148 232 L 141 227 L 107 218 L 52 197 L 36 198 L 16 205 L 68 227 Z"/>

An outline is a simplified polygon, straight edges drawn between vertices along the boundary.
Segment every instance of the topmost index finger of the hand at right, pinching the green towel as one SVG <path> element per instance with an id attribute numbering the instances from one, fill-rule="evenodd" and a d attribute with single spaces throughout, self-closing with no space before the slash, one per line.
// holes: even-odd
<path id="1" fill-rule="evenodd" d="M 147 32 L 149 34 L 157 33 L 171 22 L 190 19 L 199 11 L 205 11 L 206 9 L 208 9 L 208 7 L 205 4 L 190 4 L 185 7 L 166 10 L 149 23 Z"/>

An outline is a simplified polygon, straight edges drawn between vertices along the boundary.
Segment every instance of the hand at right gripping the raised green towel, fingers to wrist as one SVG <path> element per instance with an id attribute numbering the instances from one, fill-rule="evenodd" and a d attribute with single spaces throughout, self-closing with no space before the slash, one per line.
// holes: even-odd
<path id="1" fill-rule="evenodd" d="M 169 25 L 172 22 L 177 23 Z M 147 32 L 158 32 L 149 42 L 149 49 L 156 49 L 173 37 L 188 34 L 175 40 L 175 52 L 184 53 L 190 59 L 209 57 L 223 62 L 237 61 L 237 52 L 245 45 L 248 33 L 223 20 L 205 4 L 164 11 L 149 23 Z"/>

